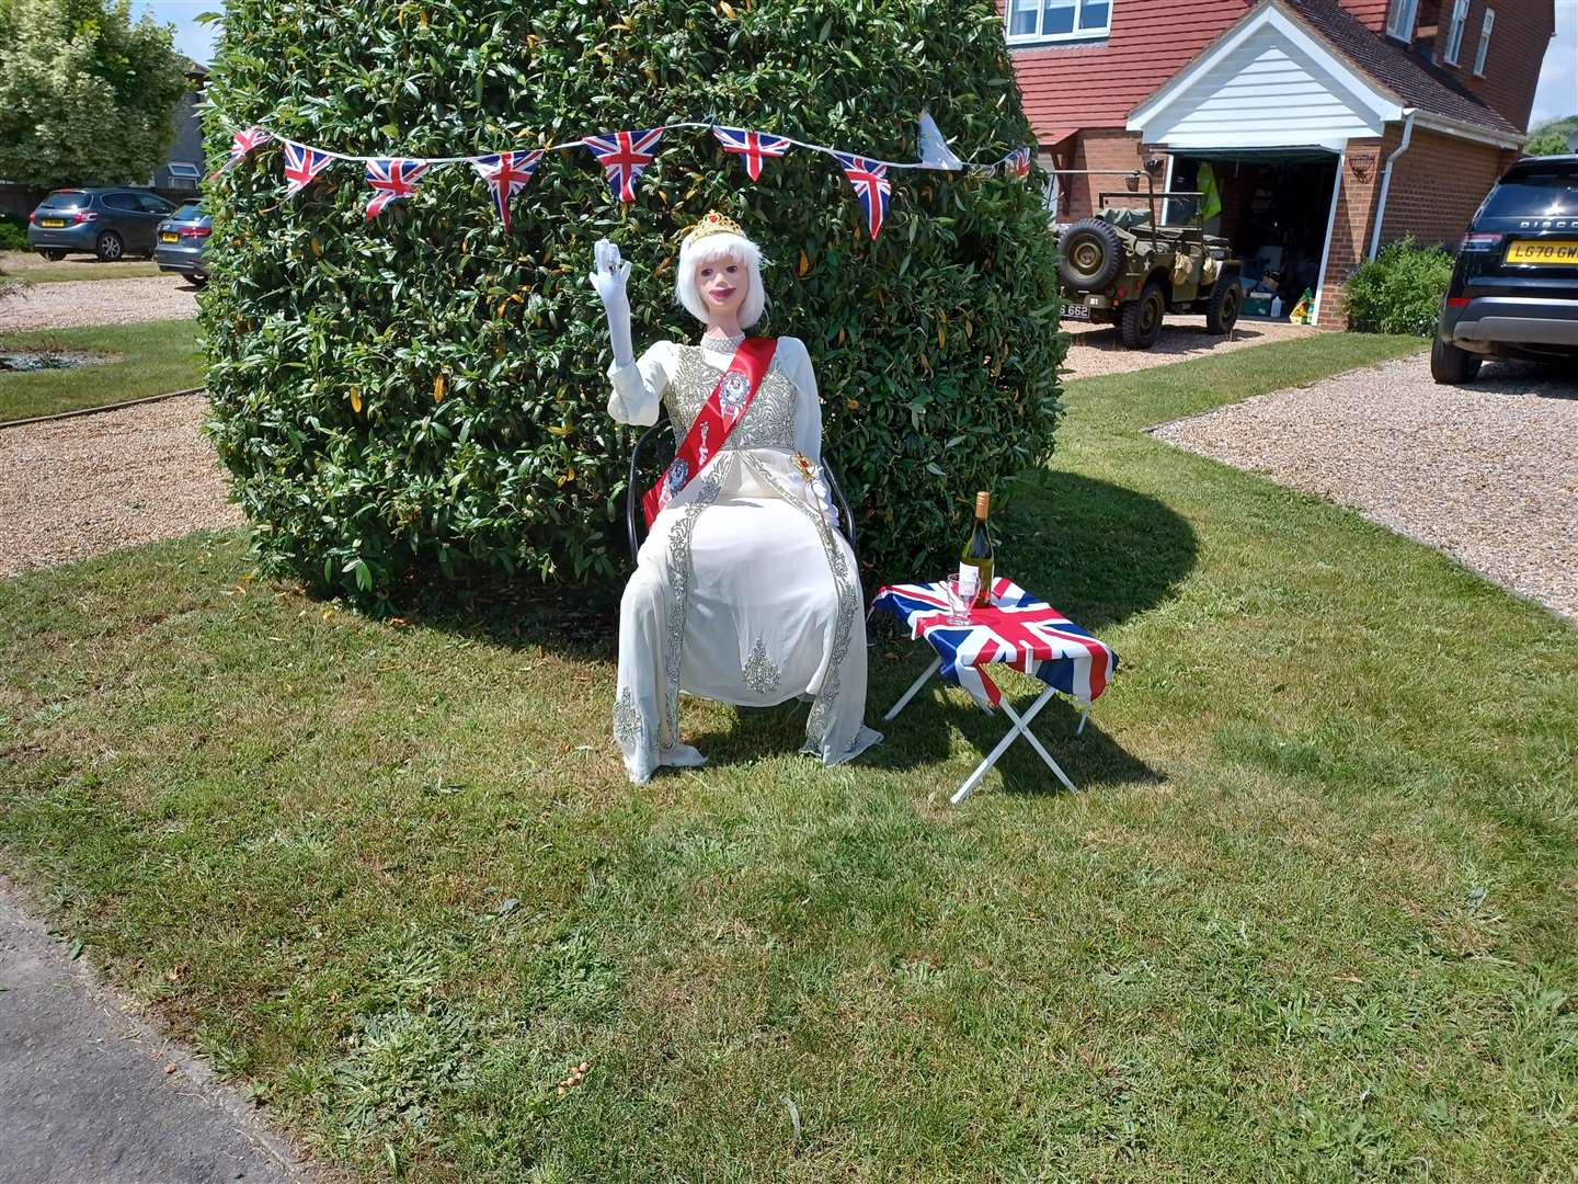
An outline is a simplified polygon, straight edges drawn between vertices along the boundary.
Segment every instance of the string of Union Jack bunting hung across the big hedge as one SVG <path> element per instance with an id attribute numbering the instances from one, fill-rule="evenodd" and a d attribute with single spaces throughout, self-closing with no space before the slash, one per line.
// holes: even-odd
<path id="1" fill-rule="evenodd" d="M 576 148 L 590 152 L 603 167 L 609 191 L 622 202 L 633 202 L 636 200 L 636 185 L 642 172 L 658 159 L 658 144 L 664 133 L 685 128 L 710 131 L 723 152 L 740 158 L 740 164 L 753 183 L 761 180 L 762 169 L 768 159 L 783 158 L 791 148 L 805 148 L 806 152 L 819 152 L 832 156 L 854 189 L 855 200 L 860 204 L 866 229 L 871 232 L 873 240 L 882 232 L 888 202 L 893 196 L 893 185 L 888 178 L 890 169 L 967 170 L 975 177 L 996 177 L 1000 172 L 1004 177 L 1016 178 L 1023 178 L 1030 172 L 1030 148 L 1027 147 L 1015 148 L 1008 155 L 988 163 L 961 161 L 948 148 L 947 141 L 942 139 L 942 133 L 937 131 L 937 125 L 931 120 L 931 115 L 922 112 L 922 158 L 918 161 L 884 161 L 860 153 L 841 152 L 822 144 L 797 141 L 792 136 L 693 122 L 667 123 L 661 128 L 641 131 L 604 131 L 530 152 L 421 158 L 353 156 L 300 144 L 254 123 L 234 133 L 229 159 L 215 169 L 208 180 L 211 182 L 229 172 L 254 148 L 278 141 L 284 152 L 286 197 L 301 193 L 335 161 L 350 161 L 363 166 L 366 182 L 372 188 L 372 199 L 368 202 L 366 210 L 368 221 L 371 221 L 394 202 L 413 196 L 429 169 L 445 164 L 469 164 L 488 183 L 499 218 L 503 221 L 505 229 L 510 229 L 510 199 L 532 180 L 546 153 Z"/>

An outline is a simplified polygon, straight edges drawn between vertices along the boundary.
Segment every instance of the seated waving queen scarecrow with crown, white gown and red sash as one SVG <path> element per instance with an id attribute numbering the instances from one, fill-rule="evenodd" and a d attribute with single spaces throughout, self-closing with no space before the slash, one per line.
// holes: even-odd
<path id="1" fill-rule="evenodd" d="M 707 325 L 638 360 L 619 248 L 590 279 L 614 344 L 608 412 L 679 450 L 644 499 L 650 524 L 619 617 L 614 739 L 633 781 L 705 758 L 680 744 L 680 691 L 742 707 L 810 698 L 805 751 L 827 766 L 882 737 L 865 726 L 866 628 L 855 556 L 821 475 L 822 409 L 797 338 L 746 338 L 767 305 L 761 251 L 707 215 L 680 245 L 675 297 Z"/>

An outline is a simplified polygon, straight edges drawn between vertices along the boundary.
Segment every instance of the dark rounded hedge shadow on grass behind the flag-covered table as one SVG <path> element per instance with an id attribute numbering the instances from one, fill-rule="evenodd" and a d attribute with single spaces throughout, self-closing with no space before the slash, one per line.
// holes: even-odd
<path id="1" fill-rule="evenodd" d="M 1195 529 L 1155 497 L 1064 470 L 1016 481 L 1002 573 L 1097 636 L 1172 598 L 1195 570 Z"/>

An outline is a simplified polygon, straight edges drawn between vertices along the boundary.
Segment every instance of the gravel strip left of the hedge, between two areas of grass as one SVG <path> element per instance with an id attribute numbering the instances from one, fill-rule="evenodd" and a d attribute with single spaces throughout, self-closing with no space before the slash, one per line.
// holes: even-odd
<path id="1" fill-rule="evenodd" d="M 0 576 L 240 523 L 197 433 L 207 412 L 185 395 L 0 428 Z"/>

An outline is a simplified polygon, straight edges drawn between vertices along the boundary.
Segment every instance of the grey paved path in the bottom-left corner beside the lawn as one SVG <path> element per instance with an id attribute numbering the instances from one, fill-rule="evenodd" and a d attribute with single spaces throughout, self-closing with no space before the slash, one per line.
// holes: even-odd
<path id="1" fill-rule="evenodd" d="M 0 1184 L 308 1181 L 207 1067 L 96 987 L 0 878 Z"/>

